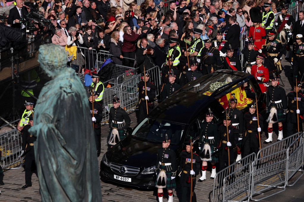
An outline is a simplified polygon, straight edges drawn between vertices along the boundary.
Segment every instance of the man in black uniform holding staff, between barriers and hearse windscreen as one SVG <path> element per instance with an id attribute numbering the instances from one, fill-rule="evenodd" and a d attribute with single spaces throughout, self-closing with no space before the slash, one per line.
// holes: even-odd
<path id="1" fill-rule="evenodd" d="M 146 90 L 145 90 L 145 82 L 146 79 Z M 142 76 L 142 80 L 138 83 L 138 94 L 139 94 L 139 118 L 138 123 L 144 120 L 145 116 L 147 116 L 147 107 L 148 113 L 154 109 L 154 98 L 156 96 L 156 86 L 150 80 L 150 74 L 146 73 L 145 77 Z M 146 96 L 147 92 L 147 96 Z M 147 104 L 146 105 L 146 100 Z"/>

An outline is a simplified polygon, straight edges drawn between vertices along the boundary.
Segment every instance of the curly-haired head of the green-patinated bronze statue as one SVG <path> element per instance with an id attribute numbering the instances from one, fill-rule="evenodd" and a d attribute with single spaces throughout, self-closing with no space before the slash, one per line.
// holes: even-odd
<path id="1" fill-rule="evenodd" d="M 38 62 L 45 73 L 54 78 L 67 67 L 67 53 L 64 47 L 55 44 L 43 44 L 39 47 Z"/>

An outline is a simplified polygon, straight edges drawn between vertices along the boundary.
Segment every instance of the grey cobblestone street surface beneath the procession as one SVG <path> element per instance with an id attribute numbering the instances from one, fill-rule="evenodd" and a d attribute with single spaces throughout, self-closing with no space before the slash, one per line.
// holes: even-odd
<path id="1" fill-rule="evenodd" d="M 292 81 L 292 69 L 290 66 L 290 61 L 287 62 L 284 59 L 284 55 L 282 56 L 282 66 L 284 66 L 285 70 L 282 71 L 282 81 L 285 85 L 284 89 L 286 94 L 290 92 Z M 281 83 L 281 81 L 280 81 Z M 135 113 L 130 115 L 133 128 L 136 126 L 136 116 Z M 98 157 L 98 167 L 100 161 L 102 160 L 103 154 L 107 151 L 107 135 L 108 135 L 108 125 L 102 126 L 102 153 L 100 157 Z M 275 139 L 277 135 L 274 135 Z M 263 143 L 266 140 L 265 134 L 261 134 L 261 142 Z M 262 147 L 265 146 L 262 144 Z M 210 169 L 211 170 L 211 169 Z M 32 176 L 32 187 L 27 189 L 21 189 L 23 185 L 25 185 L 25 173 L 23 172 L 23 168 L 20 169 L 12 169 L 4 172 L 4 183 L 5 185 L 0 186 L 1 196 L 0 201 L 41 201 L 40 193 L 39 193 L 39 182 L 38 178 L 35 174 Z M 211 172 L 207 171 L 207 180 L 202 183 L 196 183 L 195 193 L 197 196 L 197 201 L 209 202 L 212 199 L 212 189 L 213 189 L 213 180 L 210 180 Z M 96 176 L 99 178 L 99 175 Z M 199 174 L 200 177 L 200 174 Z M 269 197 L 266 200 L 262 201 L 280 201 L 280 202 L 290 202 L 290 201 L 303 201 L 304 198 L 304 177 L 302 177 L 293 187 L 288 187 L 285 192 L 277 194 L 273 197 Z M 50 190 L 52 191 L 52 190 Z M 105 183 L 101 181 L 101 191 L 102 191 L 102 201 L 157 201 L 157 193 L 156 189 L 154 190 L 139 190 L 134 187 L 120 186 L 118 184 L 113 183 Z M 180 191 L 174 191 L 174 202 L 178 202 Z M 164 198 L 168 198 L 168 195 L 164 193 Z M 167 201 L 167 199 L 164 199 Z"/>

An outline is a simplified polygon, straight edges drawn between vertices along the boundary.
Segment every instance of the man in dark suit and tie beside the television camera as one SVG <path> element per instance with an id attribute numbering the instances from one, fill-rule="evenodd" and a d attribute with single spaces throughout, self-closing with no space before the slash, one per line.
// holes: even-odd
<path id="1" fill-rule="evenodd" d="M 16 3 L 17 5 L 9 10 L 9 18 L 7 19 L 7 24 L 11 25 L 11 27 L 14 28 L 24 29 L 25 25 L 21 24 L 20 20 L 25 18 L 27 11 L 26 9 L 22 9 L 22 0 L 17 0 Z"/>

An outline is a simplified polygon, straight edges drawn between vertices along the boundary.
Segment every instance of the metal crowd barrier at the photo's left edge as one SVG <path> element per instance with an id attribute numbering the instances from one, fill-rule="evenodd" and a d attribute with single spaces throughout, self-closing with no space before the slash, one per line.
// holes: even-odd
<path id="1" fill-rule="evenodd" d="M 16 120 L 9 124 L 18 123 L 19 120 Z M 5 126 L 8 126 L 9 124 Z M 20 158 L 20 156 L 22 155 L 21 139 L 22 138 L 20 132 L 17 129 L 13 129 L 0 134 L 0 150 L 1 150 L 0 164 L 2 169 L 21 168 L 21 162 L 23 161 L 23 159 Z"/>

